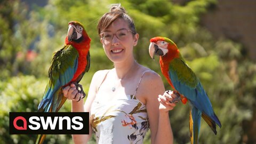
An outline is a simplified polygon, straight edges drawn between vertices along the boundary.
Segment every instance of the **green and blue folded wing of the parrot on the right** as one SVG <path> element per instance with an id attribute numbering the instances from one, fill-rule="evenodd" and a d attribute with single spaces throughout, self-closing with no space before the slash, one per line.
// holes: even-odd
<path id="1" fill-rule="evenodd" d="M 173 59 L 169 66 L 169 77 L 175 90 L 185 96 L 193 107 L 202 111 L 202 117 L 210 127 L 215 123 L 221 127 L 220 121 L 214 114 L 210 99 L 204 91 L 201 82 L 185 61 L 179 58 Z"/>

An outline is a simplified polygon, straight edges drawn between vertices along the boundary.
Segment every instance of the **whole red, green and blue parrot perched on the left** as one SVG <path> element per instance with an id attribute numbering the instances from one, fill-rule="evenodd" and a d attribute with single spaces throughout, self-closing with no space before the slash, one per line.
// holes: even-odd
<path id="1" fill-rule="evenodd" d="M 78 84 L 90 68 L 90 42 L 84 26 L 78 21 L 68 23 L 68 36 L 65 45 L 53 54 L 49 69 L 49 83 L 46 86 L 43 100 L 39 103 L 38 112 L 57 112 L 66 101 L 62 89 L 71 83 L 78 92 L 85 93 Z M 79 99 L 81 100 L 81 98 Z M 43 143 L 46 135 L 39 134 L 36 143 Z"/>

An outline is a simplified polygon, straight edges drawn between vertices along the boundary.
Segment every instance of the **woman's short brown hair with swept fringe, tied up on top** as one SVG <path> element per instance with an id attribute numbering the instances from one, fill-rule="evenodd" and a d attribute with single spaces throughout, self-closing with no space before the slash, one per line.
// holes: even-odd
<path id="1" fill-rule="evenodd" d="M 132 18 L 126 13 L 124 7 L 121 4 L 113 4 L 110 8 L 110 12 L 105 13 L 98 23 L 98 34 L 100 35 L 113 21 L 118 18 L 123 18 L 129 23 L 133 34 L 136 34 L 136 29 Z"/>

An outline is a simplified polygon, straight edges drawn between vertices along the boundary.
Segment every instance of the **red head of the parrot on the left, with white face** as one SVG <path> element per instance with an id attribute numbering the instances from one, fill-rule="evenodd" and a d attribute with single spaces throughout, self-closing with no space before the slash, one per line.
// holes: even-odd
<path id="1" fill-rule="evenodd" d="M 70 21 L 68 23 L 68 42 L 76 41 L 79 42 L 79 39 L 86 33 L 82 23 L 78 21 Z"/>

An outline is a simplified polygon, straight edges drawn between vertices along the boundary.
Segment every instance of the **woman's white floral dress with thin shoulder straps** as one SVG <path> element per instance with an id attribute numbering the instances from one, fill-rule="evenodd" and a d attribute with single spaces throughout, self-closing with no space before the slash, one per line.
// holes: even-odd
<path id="1" fill-rule="evenodd" d="M 135 97 L 136 91 L 111 102 L 93 101 L 91 125 L 97 143 L 143 143 L 149 121 L 146 105 Z"/>

